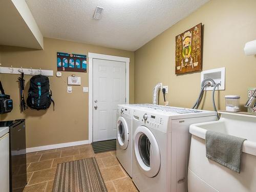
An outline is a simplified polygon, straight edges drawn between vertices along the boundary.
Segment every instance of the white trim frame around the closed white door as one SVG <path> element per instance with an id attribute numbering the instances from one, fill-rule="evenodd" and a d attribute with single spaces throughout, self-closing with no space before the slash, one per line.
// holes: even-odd
<path id="1" fill-rule="evenodd" d="M 129 104 L 129 65 L 130 58 L 98 53 L 88 53 L 89 65 L 89 143 L 93 142 L 93 59 L 125 62 L 125 104 Z"/>

